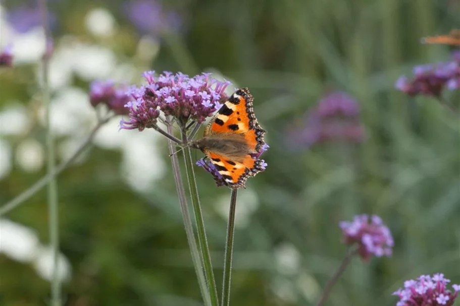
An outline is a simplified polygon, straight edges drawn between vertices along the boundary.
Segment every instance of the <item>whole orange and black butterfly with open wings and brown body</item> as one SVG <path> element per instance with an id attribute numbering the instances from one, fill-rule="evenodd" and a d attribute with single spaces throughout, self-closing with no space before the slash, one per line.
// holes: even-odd
<path id="1" fill-rule="evenodd" d="M 245 188 L 247 178 L 263 170 L 262 161 L 252 157 L 261 152 L 266 133 L 255 118 L 253 99 L 249 89 L 238 89 L 211 119 L 203 138 L 191 144 L 206 154 L 230 188 Z"/>

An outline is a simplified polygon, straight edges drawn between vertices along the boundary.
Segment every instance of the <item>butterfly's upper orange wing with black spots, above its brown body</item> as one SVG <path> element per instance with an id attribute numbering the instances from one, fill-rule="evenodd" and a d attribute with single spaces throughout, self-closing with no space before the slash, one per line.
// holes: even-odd
<path id="1" fill-rule="evenodd" d="M 244 134 L 252 152 L 259 152 L 264 144 L 265 131 L 254 115 L 253 97 L 247 88 L 238 89 L 222 105 L 205 130 L 209 134 Z"/>

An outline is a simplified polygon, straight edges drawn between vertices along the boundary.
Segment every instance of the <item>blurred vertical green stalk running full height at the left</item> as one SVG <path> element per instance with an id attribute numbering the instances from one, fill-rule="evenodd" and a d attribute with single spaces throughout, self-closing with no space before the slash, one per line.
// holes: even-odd
<path id="1" fill-rule="evenodd" d="M 47 173 L 55 172 L 55 148 L 54 135 L 51 127 L 51 104 L 49 101 L 49 84 L 48 84 L 48 68 L 49 56 L 48 53 L 48 10 L 46 0 L 39 0 L 38 5 L 41 10 L 42 25 L 45 33 L 45 53 L 42 57 L 42 99 L 46 109 L 46 164 Z M 58 274 L 58 256 L 59 256 L 59 217 L 58 217 L 58 185 L 56 176 L 48 181 L 48 216 L 49 216 L 49 240 L 53 252 L 53 275 L 51 280 L 51 304 L 52 306 L 61 306 L 61 279 Z"/>

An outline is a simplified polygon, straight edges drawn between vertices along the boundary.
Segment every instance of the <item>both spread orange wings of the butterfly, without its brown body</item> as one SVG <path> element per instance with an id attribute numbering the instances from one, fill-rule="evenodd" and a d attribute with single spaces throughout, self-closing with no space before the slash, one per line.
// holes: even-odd
<path id="1" fill-rule="evenodd" d="M 208 135 L 244 134 L 246 145 L 251 153 L 261 151 L 265 131 L 257 122 L 252 106 L 253 97 L 247 88 L 237 90 L 222 105 L 205 130 Z M 206 150 L 205 154 L 216 167 L 219 174 L 231 188 L 245 188 L 248 177 L 263 170 L 262 161 L 247 154 L 241 162 Z"/>

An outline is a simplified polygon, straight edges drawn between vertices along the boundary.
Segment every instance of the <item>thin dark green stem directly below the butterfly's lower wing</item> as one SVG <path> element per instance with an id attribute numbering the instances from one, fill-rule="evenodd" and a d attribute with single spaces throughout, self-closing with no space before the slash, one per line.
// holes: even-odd
<path id="1" fill-rule="evenodd" d="M 228 214 L 227 225 L 227 243 L 225 245 L 225 259 L 224 259 L 224 278 L 222 288 L 222 304 L 221 306 L 230 305 L 230 281 L 232 278 L 232 258 L 233 258 L 233 233 L 235 231 L 235 209 L 236 209 L 236 195 L 238 189 L 232 189 L 232 197 L 230 199 L 230 212 Z"/>

